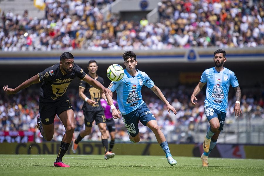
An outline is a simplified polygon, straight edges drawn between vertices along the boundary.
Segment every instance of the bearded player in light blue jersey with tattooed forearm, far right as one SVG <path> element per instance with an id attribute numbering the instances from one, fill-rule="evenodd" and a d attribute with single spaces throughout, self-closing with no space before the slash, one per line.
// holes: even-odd
<path id="1" fill-rule="evenodd" d="M 204 167 L 209 166 L 208 155 L 215 147 L 218 136 L 221 130 L 223 130 L 228 107 L 228 91 L 230 85 L 236 91 L 236 103 L 233 112 L 235 112 L 235 116 L 240 116 L 242 114 L 240 108 L 241 90 L 236 75 L 234 72 L 224 67 L 224 62 L 226 62 L 226 51 L 222 49 L 216 50 L 214 52 L 215 66 L 206 69 L 202 73 L 201 80 L 194 88 L 191 96 L 191 103 L 196 105 L 196 96 L 207 83 L 204 112 L 210 126 L 204 139 L 204 153 L 201 156 L 202 166 Z"/>

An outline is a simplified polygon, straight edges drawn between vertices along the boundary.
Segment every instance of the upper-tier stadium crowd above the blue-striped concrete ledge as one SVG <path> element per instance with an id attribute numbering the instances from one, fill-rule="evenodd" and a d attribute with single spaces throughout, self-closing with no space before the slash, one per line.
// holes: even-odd
<path id="1" fill-rule="evenodd" d="M 112 2 L 46 0 L 43 19 L 28 16 L 28 11 L 22 16 L 2 11 L 0 49 L 101 51 L 264 45 L 263 0 L 161 0 L 157 23 L 123 20 L 111 13 Z"/>

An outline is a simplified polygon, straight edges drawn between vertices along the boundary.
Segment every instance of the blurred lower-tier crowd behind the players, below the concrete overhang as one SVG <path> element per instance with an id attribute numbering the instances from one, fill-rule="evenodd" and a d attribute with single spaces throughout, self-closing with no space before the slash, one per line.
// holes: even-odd
<path id="1" fill-rule="evenodd" d="M 16 95 L 6 95 L 0 91 L 0 131 L 33 131 L 35 133 L 35 141 L 42 142 L 39 130 L 36 128 L 36 117 L 38 115 L 38 97 L 39 89 L 25 89 Z M 192 88 L 188 86 L 178 86 L 173 89 L 161 89 L 167 100 L 177 110 L 177 115 L 168 114 L 164 103 L 158 99 L 154 93 L 144 88 L 142 93 L 145 95 L 144 101 L 155 115 L 156 120 L 163 131 L 168 142 L 175 143 L 194 143 L 193 134 L 196 133 L 197 125 L 207 128 L 208 122 L 204 114 L 204 97 L 205 92 L 202 91 L 198 95 L 199 106 L 193 106 L 190 103 L 190 95 Z M 79 98 L 78 92 L 74 89 L 67 91 L 71 99 L 71 103 L 75 108 L 75 136 L 84 127 L 84 115 L 81 110 L 83 100 Z M 234 91 L 230 91 L 229 108 L 226 116 L 226 125 L 234 123 L 236 117 L 232 114 L 234 103 L 236 101 Z M 242 92 L 241 109 L 242 117 L 239 118 L 262 118 L 264 119 L 264 95 L 259 90 L 250 89 Z M 122 119 L 116 122 L 116 141 L 129 141 L 126 129 Z M 54 121 L 55 134 L 53 141 L 61 141 L 65 129 L 59 118 Z M 155 141 L 155 136 L 150 129 L 139 123 L 141 132 L 141 140 L 144 142 Z M 173 134 L 173 135 L 171 135 Z M 172 137 L 173 136 L 173 137 Z M 97 125 L 92 128 L 92 133 L 85 137 L 84 140 L 100 141 L 101 133 Z"/>

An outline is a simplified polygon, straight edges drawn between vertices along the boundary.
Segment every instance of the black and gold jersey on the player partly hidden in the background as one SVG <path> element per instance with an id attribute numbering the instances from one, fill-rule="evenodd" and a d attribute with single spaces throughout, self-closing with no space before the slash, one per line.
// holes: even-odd
<path id="1" fill-rule="evenodd" d="M 87 74 L 87 75 L 90 76 L 89 74 Z M 97 77 L 98 77 L 97 81 L 104 85 L 104 79 L 100 76 L 97 76 Z M 82 110 L 85 110 L 85 111 L 103 110 L 101 102 L 100 102 L 101 94 L 100 94 L 99 89 L 94 88 L 92 85 L 90 85 L 87 82 L 82 81 L 82 80 L 80 82 L 79 87 L 84 88 L 84 95 L 86 95 L 89 99 L 94 100 L 96 102 L 96 104 L 93 104 L 92 106 L 89 105 L 87 102 L 84 102 L 84 104 L 82 106 Z"/>

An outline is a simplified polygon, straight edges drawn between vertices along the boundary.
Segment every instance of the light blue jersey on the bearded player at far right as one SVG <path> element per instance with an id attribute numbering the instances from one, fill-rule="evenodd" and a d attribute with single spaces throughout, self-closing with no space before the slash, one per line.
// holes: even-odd
<path id="1" fill-rule="evenodd" d="M 221 112 L 227 112 L 229 86 L 237 87 L 238 81 L 233 71 L 224 67 L 220 73 L 214 67 L 206 69 L 202 76 L 202 83 L 207 83 L 204 106 L 211 106 Z"/>

